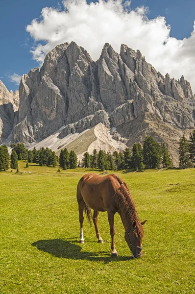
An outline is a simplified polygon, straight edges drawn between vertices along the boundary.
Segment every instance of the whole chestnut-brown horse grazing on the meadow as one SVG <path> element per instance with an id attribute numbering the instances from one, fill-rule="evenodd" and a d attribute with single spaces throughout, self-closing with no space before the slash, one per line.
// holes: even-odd
<path id="1" fill-rule="evenodd" d="M 93 221 L 99 243 L 103 243 L 103 240 L 99 234 L 97 217 L 100 211 L 107 211 L 112 239 L 112 256 L 118 256 L 114 243 L 114 215 L 118 212 L 125 229 L 124 239 L 131 249 L 132 256 L 142 256 L 143 224 L 146 221 L 140 222 L 133 199 L 122 178 L 116 174 L 100 176 L 94 173 L 87 173 L 83 175 L 77 185 L 77 202 L 81 244 L 84 243 L 83 211 L 85 210 L 88 220 L 92 223 L 91 208 L 94 210 Z"/>

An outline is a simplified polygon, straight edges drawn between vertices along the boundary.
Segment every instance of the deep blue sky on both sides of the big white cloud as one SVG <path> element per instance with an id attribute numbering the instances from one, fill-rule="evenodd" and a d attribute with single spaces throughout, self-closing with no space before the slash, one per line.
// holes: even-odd
<path id="1" fill-rule="evenodd" d="M 32 38 L 30 33 L 26 32 L 26 26 L 30 25 L 33 19 L 40 17 L 42 8 L 46 6 L 59 8 L 59 5 L 63 8 L 59 0 L 0 0 L 0 79 L 8 90 L 12 89 L 15 91 L 19 87 L 10 81 L 10 76 L 14 73 L 18 75 L 28 73 L 31 68 L 39 66 L 38 62 L 32 59 L 33 55 L 30 53 L 32 47 L 37 46 L 37 42 L 35 43 L 36 37 L 34 36 Z M 136 7 L 142 5 L 148 7 L 145 14 L 149 20 L 156 19 L 158 16 L 165 17 L 167 24 L 171 25 L 171 37 L 176 39 L 190 37 L 195 21 L 195 0 L 132 0 L 130 9 L 134 10 Z M 41 39 L 38 43 L 41 45 L 46 44 Z M 193 44 L 192 46 L 194 46 Z M 129 46 L 129 44 L 127 45 Z M 133 49 L 144 51 L 142 48 Z M 93 52 L 89 53 L 91 54 Z M 152 63 L 153 60 L 149 53 L 148 57 L 147 51 L 144 53 L 146 54 L 146 58 Z M 186 60 L 189 58 L 191 58 L 191 55 L 187 56 Z M 156 63 L 157 67 L 158 64 L 160 68 L 160 62 Z M 175 64 L 173 67 L 175 70 Z M 165 68 L 165 71 L 168 69 Z M 184 70 L 185 73 L 186 71 Z M 174 71 L 172 74 L 174 75 Z"/>

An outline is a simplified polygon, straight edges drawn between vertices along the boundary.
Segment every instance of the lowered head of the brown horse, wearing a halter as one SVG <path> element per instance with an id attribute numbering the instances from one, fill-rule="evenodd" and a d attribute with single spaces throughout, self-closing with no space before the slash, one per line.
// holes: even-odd
<path id="1" fill-rule="evenodd" d="M 141 222 L 141 225 L 145 224 L 145 221 Z M 140 224 L 139 224 L 140 226 Z M 141 232 L 140 232 L 141 231 Z M 128 231 L 124 234 L 124 239 L 126 243 L 128 244 L 133 257 L 140 257 L 142 256 L 142 237 L 143 237 L 144 231 L 143 229 L 140 230 L 140 227 L 136 225 L 136 221 L 134 221 L 129 228 Z"/>

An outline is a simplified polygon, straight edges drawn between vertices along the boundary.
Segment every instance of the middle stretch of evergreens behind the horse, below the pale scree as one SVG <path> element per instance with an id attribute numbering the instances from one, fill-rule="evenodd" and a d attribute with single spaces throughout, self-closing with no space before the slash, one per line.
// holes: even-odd
<path id="1" fill-rule="evenodd" d="M 143 172 L 144 169 L 160 168 L 161 165 L 164 168 L 172 167 L 172 161 L 165 143 L 160 145 L 152 136 L 146 136 L 143 147 L 140 143 L 135 143 L 132 152 L 128 147 L 124 152 L 114 151 L 113 154 L 103 150 L 97 153 L 96 149 L 91 155 L 85 152 L 80 165 L 85 168 L 98 168 L 101 171 L 132 169 Z"/>

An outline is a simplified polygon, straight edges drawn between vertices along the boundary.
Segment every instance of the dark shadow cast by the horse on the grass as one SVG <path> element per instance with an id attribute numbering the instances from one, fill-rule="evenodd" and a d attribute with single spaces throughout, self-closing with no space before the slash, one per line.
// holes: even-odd
<path id="1" fill-rule="evenodd" d="M 62 239 L 53 239 L 53 240 L 39 240 L 32 243 L 33 246 L 37 249 L 47 252 L 53 256 L 59 258 L 68 258 L 68 259 L 87 259 L 90 261 L 103 261 L 104 263 L 111 261 L 124 261 L 132 260 L 131 256 L 119 256 L 118 258 L 112 258 L 110 254 L 106 251 L 95 252 L 84 252 L 81 251 L 82 246 L 77 245 L 77 241 L 71 240 L 62 240 Z M 78 243 L 79 244 L 79 243 Z M 109 254 L 109 255 L 108 255 Z M 103 256 L 102 256 L 103 255 Z M 108 255 L 108 256 L 105 256 Z"/>

